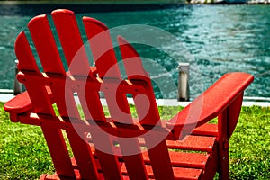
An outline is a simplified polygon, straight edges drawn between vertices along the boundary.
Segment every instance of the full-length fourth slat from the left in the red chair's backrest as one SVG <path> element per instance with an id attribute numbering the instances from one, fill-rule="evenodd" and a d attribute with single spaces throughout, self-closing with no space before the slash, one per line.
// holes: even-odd
<path id="1" fill-rule="evenodd" d="M 102 90 L 104 91 L 112 120 L 125 124 L 133 124 L 126 94 L 120 93 L 117 90 L 122 79 L 108 28 L 103 23 L 92 18 L 85 17 L 84 23 L 85 31 L 90 39 L 90 46 L 98 74 L 103 78 L 104 86 L 102 86 Z M 112 80 L 110 78 L 114 79 L 114 84 L 110 83 L 110 80 Z M 147 179 L 142 155 L 138 154 L 140 152 L 138 139 L 119 139 L 119 146 L 130 179 Z M 133 156 L 124 156 L 129 154 L 130 150 L 136 153 Z M 136 169 L 134 165 L 136 165 Z"/>

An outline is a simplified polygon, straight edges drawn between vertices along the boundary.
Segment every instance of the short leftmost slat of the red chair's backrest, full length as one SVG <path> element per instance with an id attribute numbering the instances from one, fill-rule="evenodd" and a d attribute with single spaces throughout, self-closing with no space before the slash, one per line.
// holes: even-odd
<path id="1" fill-rule="evenodd" d="M 21 32 L 16 40 L 15 53 L 19 60 L 18 68 L 23 72 L 23 75 L 22 73 L 19 74 L 18 78 L 21 78 L 20 76 L 23 77 L 23 84 L 31 98 L 34 112 L 55 115 L 50 102 L 49 92 L 42 81 L 44 77 L 40 74 L 24 32 Z M 53 68 L 50 69 L 53 71 Z M 36 76 L 40 76 L 40 81 L 29 79 L 26 75 L 29 72 L 35 72 Z M 41 126 L 41 129 L 47 141 L 50 156 L 52 157 L 58 175 L 75 176 L 61 130 L 48 126 Z"/>

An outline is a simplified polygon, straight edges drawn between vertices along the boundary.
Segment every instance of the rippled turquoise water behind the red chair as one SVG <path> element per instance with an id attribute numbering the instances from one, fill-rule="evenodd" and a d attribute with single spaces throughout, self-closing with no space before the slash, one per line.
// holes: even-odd
<path id="1" fill-rule="evenodd" d="M 0 89 L 13 88 L 14 40 L 21 30 L 26 30 L 33 14 L 39 12 L 18 14 L 0 16 Z M 84 12 L 77 14 L 77 17 L 82 15 L 92 16 L 110 28 L 147 24 L 173 34 L 182 43 L 181 47 L 174 40 L 162 40 L 160 37 L 160 46 L 168 53 L 135 45 L 142 57 L 151 58 L 159 67 L 166 69 L 159 71 L 157 68 L 157 72 L 151 73 L 164 87 L 169 74 L 177 83 L 177 63 L 189 62 L 192 97 L 201 94 L 223 74 L 234 71 L 255 76 L 255 82 L 248 87 L 246 96 L 270 97 L 270 6 L 184 5 L 146 11 Z M 157 85 L 155 90 L 157 98 L 175 98 L 177 94 L 174 88 L 169 94 L 159 94 Z"/>

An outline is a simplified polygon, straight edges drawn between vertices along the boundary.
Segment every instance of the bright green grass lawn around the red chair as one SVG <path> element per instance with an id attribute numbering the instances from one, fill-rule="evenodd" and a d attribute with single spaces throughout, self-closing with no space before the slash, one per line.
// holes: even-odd
<path id="1" fill-rule="evenodd" d="M 178 107 L 166 107 L 162 118 L 178 111 Z M 243 107 L 229 142 L 231 179 L 270 179 L 269 107 Z M 9 121 L 0 103 L 0 179 L 38 179 L 53 172 L 40 127 Z"/>

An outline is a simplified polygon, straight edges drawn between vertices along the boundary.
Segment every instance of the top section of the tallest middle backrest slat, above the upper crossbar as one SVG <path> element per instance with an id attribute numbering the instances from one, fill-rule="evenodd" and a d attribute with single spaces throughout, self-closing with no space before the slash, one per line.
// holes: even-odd
<path id="1" fill-rule="evenodd" d="M 51 13 L 61 42 L 69 71 L 73 75 L 92 76 L 84 42 L 72 11 L 59 9 Z"/>

